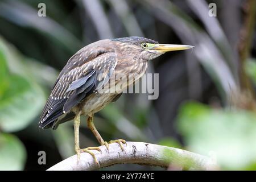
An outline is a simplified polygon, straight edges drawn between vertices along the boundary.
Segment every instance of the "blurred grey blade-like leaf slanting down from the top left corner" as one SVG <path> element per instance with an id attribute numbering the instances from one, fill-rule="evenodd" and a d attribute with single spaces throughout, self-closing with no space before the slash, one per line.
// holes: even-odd
<path id="1" fill-rule="evenodd" d="M 8 19 L 21 27 L 31 27 L 45 35 L 56 39 L 68 51 L 75 51 L 81 46 L 80 40 L 66 30 L 49 16 L 42 18 L 38 16 L 38 11 L 21 1 L 8 1 L 0 3 L 0 16 Z M 68 46 L 67 46 L 68 45 Z"/>

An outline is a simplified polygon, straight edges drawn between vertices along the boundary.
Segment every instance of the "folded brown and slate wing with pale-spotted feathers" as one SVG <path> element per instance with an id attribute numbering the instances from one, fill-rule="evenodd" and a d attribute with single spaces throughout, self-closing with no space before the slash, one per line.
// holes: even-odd
<path id="1" fill-rule="evenodd" d="M 74 56 L 72 57 L 75 59 Z M 72 61 L 69 60 L 69 63 Z M 97 92 L 99 85 L 106 84 L 117 65 L 117 56 L 114 52 L 104 52 L 73 69 L 68 65 L 63 68 L 53 86 L 40 117 L 40 128 L 51 127 L 54 121 L 68 113 L 72 107 L 93 92 Z"/>

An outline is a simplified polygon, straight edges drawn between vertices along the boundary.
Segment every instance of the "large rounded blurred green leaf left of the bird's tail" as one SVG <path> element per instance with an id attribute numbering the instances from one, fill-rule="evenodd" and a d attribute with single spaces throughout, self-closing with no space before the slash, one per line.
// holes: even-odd
<path id="1" fill-rule="evenodd" d="M 36 87 L 25 78 L 12 75 L 9 85 L 0 96 L 0 127 L 13 132 L 24 129 L 42 109 L 44 97 Z"/>

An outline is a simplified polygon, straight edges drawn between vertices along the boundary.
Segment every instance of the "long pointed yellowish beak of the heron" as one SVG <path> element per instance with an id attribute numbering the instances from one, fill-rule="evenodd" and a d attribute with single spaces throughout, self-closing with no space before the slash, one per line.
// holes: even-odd
<path id="1" fill-rule="evenodd" d="M 155 44 L 155 47 L 152 50 L 160 51 L 160 52 L 169 52 L 169 51 L 181 51 L 185 49 L 191 49 L 195 46 L 187 46 L 187 45 L 175 45 L 175 44 Z"/>

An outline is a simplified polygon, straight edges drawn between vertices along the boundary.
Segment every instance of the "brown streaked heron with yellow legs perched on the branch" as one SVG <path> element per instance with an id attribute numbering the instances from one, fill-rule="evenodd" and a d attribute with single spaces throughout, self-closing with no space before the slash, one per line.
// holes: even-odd
<path id="1" fill-rule="evenodd" d="M 79 126 L 81 115 L 87 115 L 87 126 L 100 145 L 109 149 L 117 142 L 123 150 L 123 139 L 106 142 L 93 123 L 93 115 L 110 102 L 117 101 L 127 86 L 133 85 L 147 70 L 148 62 L 169 51 L 193 46 L 159 44 L 155 40 L 130 36 L 104 39 L 91 43 L 75 53 L 60 72 L 39 119 L 39 128 L 56 130 L 64 122 L 74 121 L 75 151 L 79 162 L 81 152 L 92 155 L 100 147 L 80 148 Z M 132 77 L 132 81 L 116 77 Z M 118 85 L 118 86 L 117 86 Z M 120 86 L 122 85 L 122 86 Z"/>

